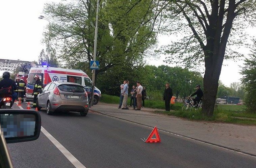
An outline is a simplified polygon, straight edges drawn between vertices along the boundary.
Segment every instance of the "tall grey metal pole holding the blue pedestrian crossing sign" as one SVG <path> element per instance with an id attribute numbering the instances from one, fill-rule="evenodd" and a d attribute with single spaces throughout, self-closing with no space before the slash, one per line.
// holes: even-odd
<path id="1" fill-rule="evenodd" d="M 98 37 L 98 15 L 99 15 L 99 0 L 97 0 L 96 24 L 95 24 L 95 33 L 94 33 L 94 52 L 93 52 L 93 60 L 94 61 L 96 61 L 96 49 L 97 49 L 97 37 Z M 89 107 L 93 106 L 94 87 L 95 87 L 95 69 L 93 69 L 92 93 L 91 93 L 91 102 L 89 104 Z"/>

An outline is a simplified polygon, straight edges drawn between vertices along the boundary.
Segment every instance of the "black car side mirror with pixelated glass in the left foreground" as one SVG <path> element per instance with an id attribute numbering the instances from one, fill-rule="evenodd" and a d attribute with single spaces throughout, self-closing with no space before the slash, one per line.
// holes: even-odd
<path id="1" fill-rule="evenodd" d="M 0 109 L 0 135 L 6 143 L 36 140 L 41 131 L 41 116 L 35 110 Z"/>

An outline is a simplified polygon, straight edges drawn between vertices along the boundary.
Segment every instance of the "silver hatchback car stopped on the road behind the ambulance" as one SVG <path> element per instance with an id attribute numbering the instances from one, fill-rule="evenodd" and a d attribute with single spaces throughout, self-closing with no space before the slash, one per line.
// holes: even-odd
<path id="1" fill-rule="evenodd" d="M 36 107 L 46 108 L 50 115 L 55 110 L 77 111 L 82 116 L 88 113 L 88 95 L 82 85 L 72 82 L 51 82 L 37 96 Z"/>

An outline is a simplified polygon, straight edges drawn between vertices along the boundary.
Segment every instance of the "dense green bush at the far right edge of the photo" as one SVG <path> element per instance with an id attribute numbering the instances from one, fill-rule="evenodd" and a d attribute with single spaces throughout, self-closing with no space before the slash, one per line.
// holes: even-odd
<path id="1" fill-rule="evenodd" d="M 250 54 L 249 59 L 245 59 L 243 70 L 241 74 L 244 76 L 241 81 L 245 86 L 247 92 L 245 97 L 245 103 L 248 110 L 252 113 L 256 113 L 256 41 L 254 41 L 254 49 Z"/>

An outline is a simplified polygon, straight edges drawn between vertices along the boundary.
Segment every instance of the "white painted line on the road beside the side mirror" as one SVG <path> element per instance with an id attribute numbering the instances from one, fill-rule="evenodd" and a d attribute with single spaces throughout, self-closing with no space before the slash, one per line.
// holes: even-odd
<path id="1" fill-rule="evenodd" d="M 16 104 L 18 104 L 16 102 Z M 23 107 L 18 106 L 20 109 Z M 42 133 L 63 153 L 63 155 L 76 167 L 76 168 L 86 168 L 81 162 L 79 162 L 59 141 L 57 141 L 46 129 L 41 126 Z"/>

